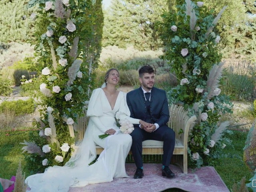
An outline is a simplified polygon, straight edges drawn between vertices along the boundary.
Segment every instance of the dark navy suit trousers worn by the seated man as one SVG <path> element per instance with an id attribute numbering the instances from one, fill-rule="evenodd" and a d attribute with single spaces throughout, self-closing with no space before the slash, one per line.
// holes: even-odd
<path id="1" fill-rule="evenodd" d="M 175 132 L 167 125 L 160 126 L 157 130 L 152 133 L 148 133 L 135 125 L 132 136 L 132 156 L 134 158 L 137 168 L 143 166 L 142 162 L 142 142 L 145 140 L 157 140 L 163 141 L 163 165 L 169 166 L 172 158 L 172 154 L 175 146 Z"/>

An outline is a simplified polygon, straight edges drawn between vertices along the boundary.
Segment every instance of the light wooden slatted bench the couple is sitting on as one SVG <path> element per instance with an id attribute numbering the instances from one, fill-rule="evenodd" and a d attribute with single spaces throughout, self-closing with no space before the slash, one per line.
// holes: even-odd
<path id="1" fill-rule="evenodd" d="M 188 173 L 188 132 L 189 129 L 194 126 L 196 116 L 188 116 L 188 111 L 184 110 L 183 106 L 173 104 L 169 107 L 170 119 L 168 126 L 172 128 L 176 134 L 175 148 L 173 154 L 176 155 L 175 162 L 184 173 Z M 86 117 L 86 110 L 84 111 L 85 116 L 78 119 L 78 123 L 74 126 L 70 125 L 70 136 L 74 137 L 74 130 L 78 132 L 77 140 L 82 140 L 84 132 L 88 124 L 89 118 Z M 100 154 L 103 148 L 96 146 L 96 153 Z M 132 154 L 130 151 L 129 154 Z M 142 142 L 142 154 L 163 154 L 163 142 L 155 140 L 146 140 Z M 173 157 L 174 158 L 174 157 Z"/>

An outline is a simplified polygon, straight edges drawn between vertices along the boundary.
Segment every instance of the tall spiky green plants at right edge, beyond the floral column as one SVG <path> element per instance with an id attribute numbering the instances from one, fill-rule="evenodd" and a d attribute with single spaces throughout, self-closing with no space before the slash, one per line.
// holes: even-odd
<path id="1" fill-rule="evenodd" d="M 256 99 L 255 64 L 252 62 L 229 62 L 224 66 L 222 75 L 223 94 L 229 95 L 232 100 L 253 101 Z"/>

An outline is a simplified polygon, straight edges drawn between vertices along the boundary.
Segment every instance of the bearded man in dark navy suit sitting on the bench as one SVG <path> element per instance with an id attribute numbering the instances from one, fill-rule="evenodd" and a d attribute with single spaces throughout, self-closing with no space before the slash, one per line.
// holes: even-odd
<path id="1" fill-rule="evenodd" d="M 142 178 L 142 141 L 163 141 L 164 154 L 162 164 L 162 176 L 174 177 L 169 164 L 172 158 L 175 133 L 167 126 L 169 120 L 169 108 L 164 90 L 154 87 L 154 69 L 151 66 L 143 66 L 139 70 L 140 88 L 127 93 L 126 99 L 130 109 L 131 117 L 148 122 L 143 126 L 134 125 L 132 136 L 132 155 L 136 164 L 134 179 Z"/>

